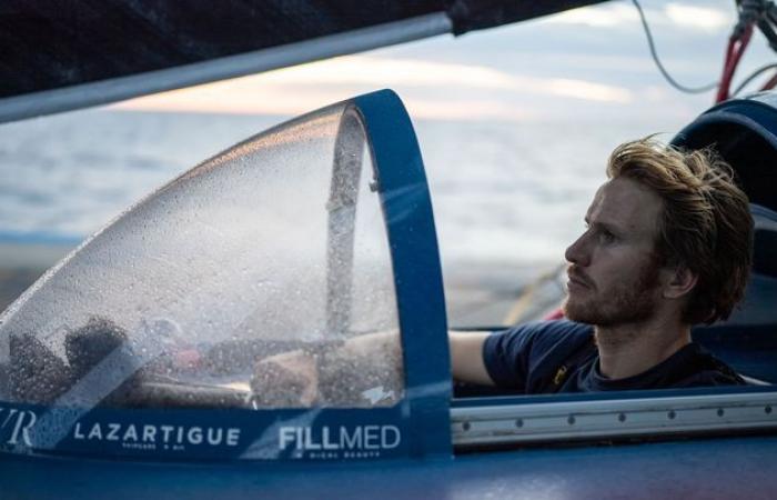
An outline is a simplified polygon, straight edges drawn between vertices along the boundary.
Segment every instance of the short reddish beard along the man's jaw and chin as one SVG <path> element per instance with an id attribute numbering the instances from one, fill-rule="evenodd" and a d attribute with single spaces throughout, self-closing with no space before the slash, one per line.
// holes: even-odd
<path id="1" fill-rule="evenodd" d="M 585 297 L 567 293 L 562 310 L 572 321 L 597 327 L 614 327 L 647 320 L 656 310 L 654 291 L 660 267 L 650 259 L 633 280 L 617 282 L 607 290 L 589 288 Z"/>

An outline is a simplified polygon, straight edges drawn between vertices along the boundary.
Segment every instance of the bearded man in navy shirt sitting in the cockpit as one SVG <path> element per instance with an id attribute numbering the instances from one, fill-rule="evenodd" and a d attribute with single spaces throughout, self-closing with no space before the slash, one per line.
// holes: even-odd
<path id="1" fill-rule="evenodd" d="M 645 139 L 618 147 L 607 177 L 566 250 L 567 320 L 452 332 L 455 379 L 525 393 L 745 383 L 690 339 L 748 279 L 753 218 L 730 168 Z"/>

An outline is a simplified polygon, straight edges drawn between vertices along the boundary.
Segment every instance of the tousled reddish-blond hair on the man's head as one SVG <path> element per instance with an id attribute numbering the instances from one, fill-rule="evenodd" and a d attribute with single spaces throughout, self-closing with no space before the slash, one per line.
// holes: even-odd
<path id="1" fill-rule="evenodd" d="M 753 217 L 728 163 L 712 148 L 685 151 L 648 137 L 616 148 L 607 177 L 635 180 L 662 198 L 656 256 L 698 276 L 683 320 L 727 319 L 753 262 Z"/>

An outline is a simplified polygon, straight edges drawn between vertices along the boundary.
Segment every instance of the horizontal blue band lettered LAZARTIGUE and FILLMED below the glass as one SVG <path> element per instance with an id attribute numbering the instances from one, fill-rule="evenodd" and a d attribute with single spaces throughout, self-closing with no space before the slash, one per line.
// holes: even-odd
<path id="1" fill-rule="evenodd" d="M 0 451 L 143 461 L 363 461 L 406 458 L 403 406 L 165 410 L 0 404 Z"/>

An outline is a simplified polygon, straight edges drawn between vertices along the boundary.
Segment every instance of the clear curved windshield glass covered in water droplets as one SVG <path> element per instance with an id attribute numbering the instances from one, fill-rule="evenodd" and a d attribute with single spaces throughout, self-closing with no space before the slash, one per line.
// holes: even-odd
<path id="1" fill-rule="evenodd" d="M 396 403 L 402 351 L 374 177 L 361 119 L 342 104 L 192 169 L 6 311 L 0 396 L 81 408 Z"/>

